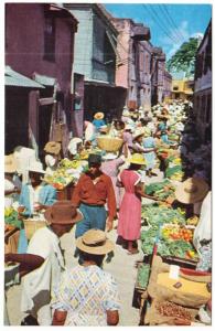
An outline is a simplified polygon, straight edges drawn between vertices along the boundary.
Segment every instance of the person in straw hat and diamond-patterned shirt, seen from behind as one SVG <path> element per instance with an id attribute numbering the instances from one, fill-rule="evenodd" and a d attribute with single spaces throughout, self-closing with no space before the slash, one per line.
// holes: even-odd
<path id="1" fill-rule="evenodd" d="M 101 269 L 114 244 L 100 229 L 89 229 L 76 241 L 82 266 L 62 275 L 52 307 L 53 325 L 105 327 L 119 321 L 119 293 L 114 277 Z"/>

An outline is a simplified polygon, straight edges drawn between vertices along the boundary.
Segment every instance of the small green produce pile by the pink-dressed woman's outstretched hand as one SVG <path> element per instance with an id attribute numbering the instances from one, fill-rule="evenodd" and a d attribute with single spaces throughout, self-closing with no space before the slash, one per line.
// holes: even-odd
<path id="1" fill-rule="evenodd" d="M 153 195 L 159 200 L 164 201 L 170 196 L 174 197 L 175 188 L 168 179 L 165 179 L 163 182 L 146 185 L 144 191 L 147 194 Z"/>

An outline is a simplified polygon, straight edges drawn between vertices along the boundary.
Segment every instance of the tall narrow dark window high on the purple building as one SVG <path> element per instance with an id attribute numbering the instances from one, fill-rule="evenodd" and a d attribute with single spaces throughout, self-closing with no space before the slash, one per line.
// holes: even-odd
<path id="1" fill-rule="evenodd" d="M 55 21 L 53 18 L 45 18 L 44 60 L 55 61 Z"/>

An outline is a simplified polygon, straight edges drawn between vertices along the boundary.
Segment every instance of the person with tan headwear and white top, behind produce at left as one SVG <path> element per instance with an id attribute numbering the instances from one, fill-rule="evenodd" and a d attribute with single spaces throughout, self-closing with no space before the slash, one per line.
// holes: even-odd
<path id="1" fill-rule="evenodd" d="M 46 174 L 52 175 L 53 172 L 57 169 L 58 161 L 60 161 L 60 152 L 61 152 L 61 143 L 56 141 L 49 141 L 45 147 L 45 164 Z"/>

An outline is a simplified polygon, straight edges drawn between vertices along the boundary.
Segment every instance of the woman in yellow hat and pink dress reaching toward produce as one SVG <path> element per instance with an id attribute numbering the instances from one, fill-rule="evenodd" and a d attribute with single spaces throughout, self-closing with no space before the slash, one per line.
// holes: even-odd
<path id="1" fill-rule="evenodd" d="M 141 228 L 141 197 L 158 200 L 144 193 L 144 182 L 138 172 L 146 161 L 140 153 L 130 158 L 129 169 L 125 169 L 118 180 L 125 188 L 125 194 L 119 207 L 118 243 L 127 244 L 128 254 L 137 254 L 137 241 L 140 238 Z"/>

